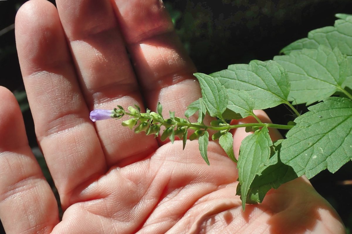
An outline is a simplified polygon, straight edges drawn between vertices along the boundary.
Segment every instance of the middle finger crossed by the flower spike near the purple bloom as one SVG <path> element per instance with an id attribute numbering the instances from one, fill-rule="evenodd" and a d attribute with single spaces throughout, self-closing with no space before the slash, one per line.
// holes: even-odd
<path id="1" fill-rule="evenodd" d="M 143 109 L 109 0 L 58 0 L 57 7 L 89 108 L 113 109 L 116 105 L 137 104 Z M 138 156 L 144 158 L 157 147 L 153 137 L 126 131 L 121 121 L 96 123 L 108 166 L 130 163 Z"/>

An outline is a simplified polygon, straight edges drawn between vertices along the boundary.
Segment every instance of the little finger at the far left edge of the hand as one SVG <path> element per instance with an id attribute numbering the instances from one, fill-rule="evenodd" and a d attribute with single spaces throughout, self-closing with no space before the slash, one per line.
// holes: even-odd
<path id="1" fill-rule="evenodd" d="M 50 233 L 55 196 L 28 145 L 20 108 L 0 86 L 0 219 L 7 234 Z"/>

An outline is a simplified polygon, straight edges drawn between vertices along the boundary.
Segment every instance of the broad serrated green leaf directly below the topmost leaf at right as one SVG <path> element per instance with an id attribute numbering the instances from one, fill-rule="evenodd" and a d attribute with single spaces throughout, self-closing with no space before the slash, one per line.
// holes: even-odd
<path id="1" fill-rule="evenodd" d="M 302 49 L 275 56 L 274 60 L 287 69 L 291 81 L 289 100 L 297 104 L 309 105 L 343 91 L 342 83 L 349 73 L 346 56 L 338 48 Z"/>

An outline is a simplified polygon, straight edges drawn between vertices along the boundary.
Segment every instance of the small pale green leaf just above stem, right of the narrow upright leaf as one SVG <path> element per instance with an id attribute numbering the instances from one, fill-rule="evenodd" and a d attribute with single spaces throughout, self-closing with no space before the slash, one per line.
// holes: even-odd
<path id="1" fill-rule="evenodd" d="M 244 90 L 227 89 L 228 104 L 227 109 L 240 114 L 240 119 L 247 116 L 254 116 L 253 109 L 255 106 L 254 100 Z"/>

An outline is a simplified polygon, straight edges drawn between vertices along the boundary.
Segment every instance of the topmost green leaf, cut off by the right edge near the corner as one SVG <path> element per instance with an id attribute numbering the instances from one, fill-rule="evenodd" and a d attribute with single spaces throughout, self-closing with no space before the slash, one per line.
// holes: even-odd
<path id="1" fill-rule="evenodd" d="M 293 51 L 318 49 L 319 45 L 331 49 L 339 48 L 342 54 L 352 55 L 352 16 L 337 14 L 334 26 L 318 28 L 308 33 L 308 38 L 297 40 L 284 47 L 280 53 L 290 54 Z"/>

